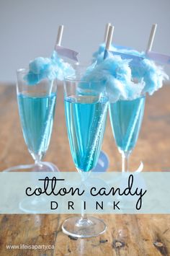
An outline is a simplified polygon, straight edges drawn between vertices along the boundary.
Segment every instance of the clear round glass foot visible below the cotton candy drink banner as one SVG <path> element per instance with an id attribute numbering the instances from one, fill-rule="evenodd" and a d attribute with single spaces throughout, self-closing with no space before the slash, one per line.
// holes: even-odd
<path id="1" fill-rule="evenodd" d="M 66 219 L 62 225 L 63 233 L 78 238 L 97 237 L 99 234 L 103 234 L 106 229 L 107 226 L 104 221 L 94 217 L 88 217 L 88 219 L 72 217 Z"/>

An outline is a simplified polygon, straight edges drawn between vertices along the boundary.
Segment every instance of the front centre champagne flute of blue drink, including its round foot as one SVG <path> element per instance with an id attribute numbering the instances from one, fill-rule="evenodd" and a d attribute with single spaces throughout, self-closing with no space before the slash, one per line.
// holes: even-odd
<path id="1" fill-rule="evenodd" d="M 64 104 L 71 155 L 82 178 L 91 172 L 99 158 L 107 120 L 108 99 L 105 91 L 97 92 L 94 89 L 99 86 L 100 81 L 83 81 L 80 66 L 77 69 L 75 79 L 65 80 Z M 62 229 L 65 234 L 86 238 L 102 234 L 106 225 L 102 220 L 87 218 L 81 213 L 81 217 L 66 219 Z"/>

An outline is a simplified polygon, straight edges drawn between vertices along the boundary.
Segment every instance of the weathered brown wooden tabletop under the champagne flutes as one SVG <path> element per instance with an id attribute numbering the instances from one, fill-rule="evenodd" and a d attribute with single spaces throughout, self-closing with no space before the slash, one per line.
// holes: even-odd
<path id="1" fill-rule="evenodd" d="M 170 169 L 170 87 L 146 100 L 146 111 L 138 144 L 130 159 L 130 170 L 140 160 L 145 170 Z M 0 86 L 0 169 L 30 164 L 19 125 L 15 88 Z M 109 120 L 102 149 L 109 156 L 109 171 L 120 170 L 120 154 Z M 58 89 L 55 124 L 45 160 L 62 171 L 75 169 L 68 146 L 63 112 L 63 88 Z M 2 196 L 2 195 L 1 195 Z M 73 239 L 61 231 L 66 215 L 1 215 L 0 255 L 170 255 L 169 215 L 101 215 L 107 231 L 92 239 Z M 54 250 L 6 250 L 6 244 L 55 245 Z"/>

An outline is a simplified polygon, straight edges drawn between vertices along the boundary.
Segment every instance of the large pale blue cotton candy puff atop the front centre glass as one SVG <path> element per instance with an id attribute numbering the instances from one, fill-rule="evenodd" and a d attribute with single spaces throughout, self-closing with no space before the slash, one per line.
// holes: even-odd
<path id="1" fill-rule="evenodd" d="M 117 100 L 133 100 L 140 97 L 143 90 L 143 82 L 135 84 L 131 81 L 131 69 L 129 60 L 122 60 L 120 56 L 109 56 L 101 62 L 93 63 L 82 80 L 91 82 L 91 89 L 98 92 L 107 89 L 111 102 Z M 99 81 L 96 84 L 95 81 Z M 83 85 L 86 89 L 86 84 Z M 82 87 L 82 84 L 81 84 Z"/>

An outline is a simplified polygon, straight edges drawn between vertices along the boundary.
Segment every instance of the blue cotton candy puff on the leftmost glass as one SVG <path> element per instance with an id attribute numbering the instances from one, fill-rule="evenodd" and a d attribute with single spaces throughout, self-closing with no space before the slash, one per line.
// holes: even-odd
<path id="1" fill-rule="evenodd" d="M 29 71 L 25 76 L 28 84 L 34 85 L 39 83 L 42 79 L 58 79 L 63 81 L 67 76 L 74 76 L 75 71 L 73 67 L 63 61 L 58 54 L 53 51 L 51 58 L 38 57 L 30 61 Z"/>

